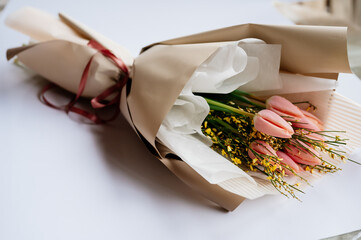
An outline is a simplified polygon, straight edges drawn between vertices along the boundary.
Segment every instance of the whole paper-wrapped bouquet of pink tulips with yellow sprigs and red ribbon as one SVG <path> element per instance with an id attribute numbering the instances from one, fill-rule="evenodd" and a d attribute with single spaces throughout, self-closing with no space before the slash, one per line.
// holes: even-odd
<path id="1" fill-rule="evenodd" d="M 80 97 L 116 106 L 175 175 L 227 210 L 265 194 L 297 198 L 360 146 L 361 107 L 334 92 L 338 73 L 350 72 L 345 28 L 245 24 L 133 59 L 64 14 L 25 8 L 7 24 L 34 40 L 8 59 L 76 94 L 59 107 L 48 85 L 45 104 L 95 123 L 106 120 L 77 107 Z"/>

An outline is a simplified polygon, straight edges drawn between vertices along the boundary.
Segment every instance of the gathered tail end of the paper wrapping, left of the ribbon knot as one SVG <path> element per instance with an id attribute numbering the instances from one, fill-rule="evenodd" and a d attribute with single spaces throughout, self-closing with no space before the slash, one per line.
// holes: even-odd
<path id="1" fill-rule="evenodd" d="M 101 42 L 121 58 L 128 68 L 132 66 L 133 58 L 123 47 L 87 27 L 68 26 L 66 22 L 70 23 L 70 18 L 62 16 L 61 19 L 30 7 L 10 15 L 5 23 L 38 43 L 9 50 L 8 59 L 17 55 L 27 67 L 70 92 L 77 91 L 84 68 L 96 53 L 95 49 L 87 46 L 90 39 Z M 109 59 L 97 54 L 82 96 L 99 95 L 112 86 L 120 74 L 120 70 Z"/>

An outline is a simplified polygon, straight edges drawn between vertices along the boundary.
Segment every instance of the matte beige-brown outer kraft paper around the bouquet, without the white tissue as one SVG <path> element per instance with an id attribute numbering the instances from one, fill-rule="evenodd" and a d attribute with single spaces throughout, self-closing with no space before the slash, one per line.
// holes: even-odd
<path id="1" fill-rule="evenodd" d="M 23 10 L 22 15 L 39 16 L 32 9 Z M 73 30 L 71 34 L 85 40 L 96 38 L 106 45 L 106 40 L 85 26 L 64 15 L 61 19 L 63 21 L 60 21 L 60 24 Z M 14 27 L 11 21 L 8 24 Z M 31 32 L 31 29 L 28 32 Z M 69 37 L 64 38 L 66 34 L 63 32 L 61 37 L 51 36 L 44 42 L 28 47 L 10 49 L 8 57 L 17 55 L 20 61 L 40 75 L 75 93 L 80 81 L 79 74 L 89 56 L 94 54 L 94 50 L 85 43 L 69 40 Z M 337 78 L 339 72 L 350 72 L 346 28 L 244 24 L 172 39 L 144 48 L 131 66 L 132 81 L 128 82 L 128 85 L 131 84 L 128 86 L 130 92 L 126 95 L 124 88 L 121 95 L 123 115 L 149 149 L 185 183 L 227 210 L 235 209 L 244 198 L 225 190 L 224 187 L 208 183 L 157 140 L 156 134 L 192 73 L 218 49 L 220 42 L 250 37 L 282 45 L 283 71 L 332 79 Z M 110 50 L 116 48 L 114 45 L 108 46 Z M 51 62 L 54 55 L 59 57 Z M 108 59 L 97 55 L 98 60 L 91 65 L 92 71 L 85 92 L 85 96 L 89 97 L 102 92 L 116 81 L 120 74 Z M 124 52 L 116 55 L 120 58 L 129 57 Z M 69 57 L 74 58 L 72 66 L 64 63 Z M 128 61 L 128 66 L 129 63 L 131 60 Z M 58 69 L 59 66 L 67 71 Z M 64 79 L 68 82 L 64 82 Z M 361 132 L 360 129 L 357 131 Z"/>

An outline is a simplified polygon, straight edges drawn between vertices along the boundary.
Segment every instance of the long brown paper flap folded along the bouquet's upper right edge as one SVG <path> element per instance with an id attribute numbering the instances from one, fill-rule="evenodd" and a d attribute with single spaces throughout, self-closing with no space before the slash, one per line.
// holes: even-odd
<path id="1" fill-rule="evenodd" d="M 300 37 L 303 41 L 299 41 Z M 141 53 L 159 44 L 195 44 L 236 41 L 243 38 L 258 38 L 269 44 L 282 44 L 283 50 L 287 48 L 292 52 L 282 53 L 281 69 L 285 71 L 302 74 L 351 72 L 347 57 L 347 27 L 247 23 L 153 43 L 144 47 Z M 328 44 L 325 44 L 325 41 Z M 304 43 L 313 44 L 313 51 L 305 52 Z M 321 57 L 325 55 L 328 57 Z M 317 61 L 314 61 L 315 59 Z M 300 64 L 301 62 L 304 64 Z"/>

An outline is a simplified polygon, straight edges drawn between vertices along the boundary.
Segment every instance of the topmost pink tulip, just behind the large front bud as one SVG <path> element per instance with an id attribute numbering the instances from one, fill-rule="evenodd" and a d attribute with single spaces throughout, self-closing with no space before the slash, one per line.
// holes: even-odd
<path id="1" fill-rule="evenodd" d="M 268 98 L 266 101 L 266 108 L 272 110 L 288 121 L 299 121 L 303 117 L 303 113 L 297 106 L 281 96 L 272 96 Z"/>

